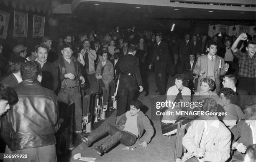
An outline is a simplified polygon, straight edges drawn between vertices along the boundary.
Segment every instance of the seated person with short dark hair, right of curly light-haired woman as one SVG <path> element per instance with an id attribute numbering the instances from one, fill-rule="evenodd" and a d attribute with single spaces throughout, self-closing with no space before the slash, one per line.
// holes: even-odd
<path id="1" fill-rule="evenodd" d="M 221 109 L 227 112 L 227 115 L 224 116 L 222 120 L 229 129 L 236 125 L 237 120 L 245 119 L 241 108 L 231 103 L 233 102 L 235 95 L 236 92 L 230 88 L 223 88 L 220 90 L 220 102 L 224 104 Z"/>

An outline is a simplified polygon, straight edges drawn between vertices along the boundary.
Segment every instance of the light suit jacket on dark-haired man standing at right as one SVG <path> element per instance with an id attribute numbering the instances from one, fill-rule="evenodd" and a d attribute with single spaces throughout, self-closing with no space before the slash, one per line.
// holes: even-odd
<path id="1" fill-rule="evenodd" d="M 208 62 L 208 55 L 203 55 L 198 57 L 197 59 L 197 63 L 195 65 L 195 68 L 193 70 L 193 73 L 195 75 L 198 75 L 198 84 L 197 84 L 197 91 L 201 90 L 200 87 L 200 80 L 204 77 L 207 77 L 207 62 Z M 220 64 L 220 60 L 221 60 L 221 67 L 219 67 Z M 220 92 L 220 75 L 225 75 L 227 72 L 224 70 L 224 59 L 220 56 L 216 56 L 214 59 L 214 78 L 215 78 L 215 85 L 216 85 L 216 93 L 218 94 Z M 205 74 L 203 74 L 202 76 L 200 75 L 201 70 L 206 70 Z"/>

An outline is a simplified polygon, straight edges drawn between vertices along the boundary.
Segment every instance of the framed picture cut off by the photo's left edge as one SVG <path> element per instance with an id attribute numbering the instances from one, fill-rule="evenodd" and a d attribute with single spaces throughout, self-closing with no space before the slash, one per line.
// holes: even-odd
<path id="1" fill-rule="evenodd" d="M 0 38 L 6 39 L 10 13 L 0 10 Z"/>

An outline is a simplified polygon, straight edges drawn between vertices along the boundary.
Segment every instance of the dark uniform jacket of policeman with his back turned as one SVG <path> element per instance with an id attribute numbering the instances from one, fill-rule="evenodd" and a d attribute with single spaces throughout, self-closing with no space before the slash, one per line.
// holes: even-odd
<path id="1" fill-rule="evenodd" d="M 120 75 L 119 88 L 136 90 L 142 85 L 141 72 L 139 69 L 139 60 L 137 57 L 127 54 L 120 57 L 115 65 L 117 75 L 121 72 L 131 73 L 134 76 Z"/>

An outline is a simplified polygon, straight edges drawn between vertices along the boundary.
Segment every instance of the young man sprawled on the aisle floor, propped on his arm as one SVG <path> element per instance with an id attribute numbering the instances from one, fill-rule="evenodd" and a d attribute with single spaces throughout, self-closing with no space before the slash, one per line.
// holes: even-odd
<path id="1" fill-rule="evenodd" d="M 148 117 L 140 111 L 141 106 L 142 103 L 140 101 L 134 100 L 130 103 L 130 111 L 118 117 L 116 127 L 106 123 L 92 131 L 88 137 L 82 133 L 79 133 L 79 137 L 87 146 L 90 146 L 93 141 L 107 133 L 110 134 L 111 137 L 105 140 L 105 142 L 99 146 L 95 146 L 97 153 L 103 155 L 104 152 L 107 152 L 118 142 L 121 142 L 125 146 L 134 145 L 137 138 L 143 134 L 143 130 L 146 130 L 143 139 L 141 138 L 143 142 L 140 144 L 142 146 L 141 149 L 146 149 L 147 144 L 154 134 L 154 129 Z"/>

